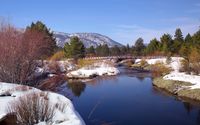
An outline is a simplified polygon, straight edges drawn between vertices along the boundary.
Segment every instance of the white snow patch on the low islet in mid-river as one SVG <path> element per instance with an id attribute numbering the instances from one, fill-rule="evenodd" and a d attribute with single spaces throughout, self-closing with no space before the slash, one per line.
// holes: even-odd
<path id="1" fill-rule="evenodd" d="M 93 75 L 117 75 L 119 70 L 114 66 L 108 65 L 106 63 L 96 63 L 90 67 L 83 67 L 81 69 L 67 73 L 68 77 L 77 77 L 77 78 L 88 78 Z"/>

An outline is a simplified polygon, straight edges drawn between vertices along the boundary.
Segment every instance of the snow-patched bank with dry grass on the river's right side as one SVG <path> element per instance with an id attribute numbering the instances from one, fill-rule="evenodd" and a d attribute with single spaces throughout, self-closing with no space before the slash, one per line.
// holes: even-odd
<path id="1" fill-rule="evenodd" d="M 167 74 L 154 76 L 153 85 L 178 97 L 200 101 L 200 76 L 179 72 L 181 59 L 172 57 L 168 63 L 166 58 L 147 59 L 148 65 L 156 65 L 159 62 L 171 68 L 171 72 Z M 141 59 L 138 59 L 136 63 L 140 61 Z"/>

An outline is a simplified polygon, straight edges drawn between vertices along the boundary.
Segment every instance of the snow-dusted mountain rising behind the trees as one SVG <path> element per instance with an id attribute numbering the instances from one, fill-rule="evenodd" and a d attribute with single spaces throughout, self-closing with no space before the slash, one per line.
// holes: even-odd
<path id="1" fill-rule="evenodd" d="M 107 44 L 109 47 L 113 47 L 115 45 L 117 46 L 123 46 L 122 44 L 110 39 L 107 36 L 98 34 L 98 33 L 63 33 L 63 32 L 54 32 L 54 36 L 57 41 L 57 45 L 59 47 L 64 47 L 66 42 L 70 41 L 70 38 L 73 36 L 79 37 L 79 39 L 83 42 L 85 47 L 94 46 L 97 45 L 103 45 Z"/>

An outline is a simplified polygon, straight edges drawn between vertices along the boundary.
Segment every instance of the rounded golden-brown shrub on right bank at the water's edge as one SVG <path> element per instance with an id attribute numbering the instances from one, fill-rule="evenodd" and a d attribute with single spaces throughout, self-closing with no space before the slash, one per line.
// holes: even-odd
<path id="1" fill-rule="evenodd" d="M 155 64 L 151 65 L 151 72 L 153 77 L 164 76 L 166 74 L 169 74 L 171 71 L 171 68 L 165 66 L 161 62 L 156 62 Z"/>

